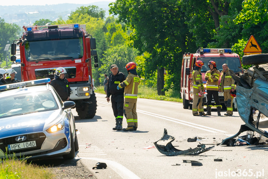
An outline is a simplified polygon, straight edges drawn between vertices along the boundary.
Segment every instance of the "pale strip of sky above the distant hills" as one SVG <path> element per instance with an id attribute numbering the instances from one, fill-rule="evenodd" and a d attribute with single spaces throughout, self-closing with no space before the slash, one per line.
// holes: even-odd
<path id="1" fill-rule="evenodd" d="M 93 2 L 114 2 L 115 0 L 87 0 L 87 1 L 79 1 L 77 3 L 74 0 L 4 0 L 1 2 L 1 6 L 13 6 L 13 5 L 37 5 L 37 6 L 44 6 L 44 5 L 51 5 L 51 4 L 63 4 L 63 3 L 72 3 L 72 4 L 90 4 Z"/>

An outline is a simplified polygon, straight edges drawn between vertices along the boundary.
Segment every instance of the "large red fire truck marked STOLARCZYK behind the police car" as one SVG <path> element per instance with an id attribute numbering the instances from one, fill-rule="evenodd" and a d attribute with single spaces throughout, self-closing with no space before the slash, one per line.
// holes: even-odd
<path id="1" fill-rule="evenodd" d="M 93 118 L 97 110 L 91 59 L 98 67 L 96 40 L 85 25 L 23 26 L 23 36 L 11 45 L 11 61 L 16 63 L 16 44 L 20 44 L 21 80 L 54 78 L 58 67 L 66 69 L 80 118 Z"/>

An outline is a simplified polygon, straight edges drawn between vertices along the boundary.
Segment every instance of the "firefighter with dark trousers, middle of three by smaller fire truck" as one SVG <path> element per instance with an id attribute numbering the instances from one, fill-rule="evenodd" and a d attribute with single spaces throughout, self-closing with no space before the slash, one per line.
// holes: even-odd
<path id="1" fill-rule="evenodd" d="M 216 62 L 209 61 L 208 67 L 210 70 L 205 74 L 205 80 L 207 80 L 206 89 L 207 89 L 207 114 L 211 115 L 211 101 L 212 96 L 214 98 L 218 115 L 220 115 L 220 100 L 219 100 L 219 79 L 220 71 L 216 68 Z"/>

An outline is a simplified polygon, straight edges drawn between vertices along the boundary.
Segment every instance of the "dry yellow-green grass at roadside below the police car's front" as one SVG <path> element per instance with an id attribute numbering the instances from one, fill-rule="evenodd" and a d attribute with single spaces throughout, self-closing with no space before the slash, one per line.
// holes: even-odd
<path id="1" fill-rule="evenodd" d="M 0 159 L 0 179 L 52 179 L 55 175 L 46 171 L 44 167 L 27 164 L 26 160 Z"/>

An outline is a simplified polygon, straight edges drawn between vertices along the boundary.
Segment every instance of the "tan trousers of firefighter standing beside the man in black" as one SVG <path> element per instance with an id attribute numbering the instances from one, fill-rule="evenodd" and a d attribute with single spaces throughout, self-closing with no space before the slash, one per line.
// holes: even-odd
<path id="1" fill-rule="evenodd" d="M 136 112 L 137 99 L 125 98 L 124 115 L 127 119 L 128 127 L 138 127 L 138 116 Z"/>

